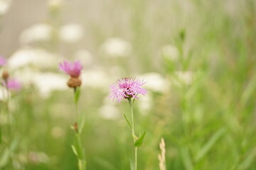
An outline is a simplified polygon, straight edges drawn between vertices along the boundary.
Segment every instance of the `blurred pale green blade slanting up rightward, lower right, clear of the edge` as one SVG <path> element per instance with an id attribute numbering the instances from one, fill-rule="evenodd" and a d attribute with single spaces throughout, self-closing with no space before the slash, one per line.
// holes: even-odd
<path id="1" fill-rule="evenodd" d="M 224 132 L 225 129 L 221 128 L 220 130 L 215 132 L 215 134 L 212 137 L 210 137 L 210 140 L 206 143 L 206 145 L 203 146 L 200 152 L 198 152 L 198 154 L 196 155 L 196 162 L 201 160 L 210 151 L 210 149 L 213 147 L 213 145 L 215 145 L 218 139 L 220 139 Z"/>

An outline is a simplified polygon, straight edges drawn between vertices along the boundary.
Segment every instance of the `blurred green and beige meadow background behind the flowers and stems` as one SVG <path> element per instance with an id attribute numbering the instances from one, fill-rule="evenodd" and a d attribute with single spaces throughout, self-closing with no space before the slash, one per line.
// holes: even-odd
<path id="1" fill-rule="evenodd" d="M 14 7 L 20 3 L 14 2 Z M 191 84 L 166 84 L 164 93 L 149 90 L 153 102 L 148 113 L 141 113 L 139 100 L 134 103 L 137 133 L 146 130 L 139 148 L 139 169 L 159 169 L 161 137 L 166 142 L 167 169 L 256 169 L 255 1 L 66 1 L 60 11 L 46 11 L 45 21 L 56 28 L 65 21 L 82 23 L 86 38 L 78 45 L 62 45 L 57 38 L 32 47 L 70 59 L 74 50 L 87 47 L 106 72 L 115 65 L 124 68 L 123 77 L 157 72 L 171 82 L 176 72 L 193 73 Z M 2 23 L 2 35 L 4 24 L 8 22 Z M 132 55 L 117 60 L 102 56 L 98 47 L 110 37 L 129 40 Z M 177 60 L 161 55 L 159 50 L 166 44 L 178 48 Z M 1 50 L 8 56 L 14 47 Z M 99 89 L 81 89 L 87 169 L 127 170 L 129 154 L 133 153 L 132 137 L 122 115 L 129 115 L 129 105 L 125 101 L 117 104 L 117 120 L 102 119 L 98 108 L 107 95 Z M 56 91 L 44 99 L 36 89 L 23 89 L 11 100 L 14 140 L 7 145 L 16 146 L 13 154 L 6 155 L 1 144 L 2 169 L 77 169 L 70 147 L 74 140 L 70 128 L 74 121 L 73 91 Z M 4 102 L 0 104 L 4 114 Z M 53 137 L 55 127 L 65 135 Z M 5 129 L 2 132 L 3 137 L 8 136 Z M 41 153 L 41 157 L 46 154 L 47 160 L 36 161 L 39 156 L 33 152 Z"/>

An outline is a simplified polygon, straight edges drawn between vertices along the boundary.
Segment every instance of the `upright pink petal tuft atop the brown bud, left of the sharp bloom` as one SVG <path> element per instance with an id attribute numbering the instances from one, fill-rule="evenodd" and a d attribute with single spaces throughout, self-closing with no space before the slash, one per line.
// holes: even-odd
<path id="1" fill-rule="evenodd" d="M 80 77 L 82 64 L 80 63 L 80 61 L 77 61 L 77 62 L 65 61 L 59 64 L 59 68 L 66 74 L 69 74 L 70 77 Z"/>

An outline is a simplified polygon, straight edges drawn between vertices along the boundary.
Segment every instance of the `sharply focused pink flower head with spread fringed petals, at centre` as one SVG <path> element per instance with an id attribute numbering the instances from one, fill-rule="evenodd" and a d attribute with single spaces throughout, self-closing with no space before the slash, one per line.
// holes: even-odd
<path id="1" fill-rule="evenodd" d="M 122 80 L 117 80 L 117 84 L 110 86 L 110 98 L 116 99 L 118 102 L 127 100 L 128 98 L 138 98 L 138 94 L 147 94 L 142 88 L 146 82 L 143 80 L 125 77 Z"/>

